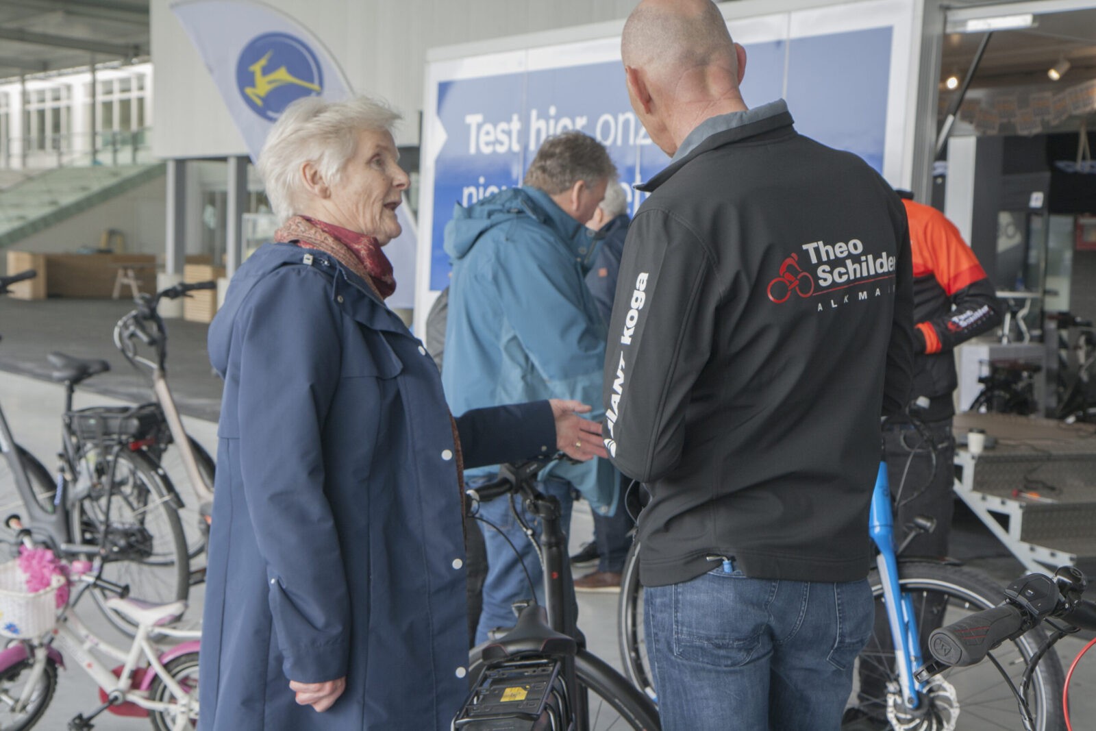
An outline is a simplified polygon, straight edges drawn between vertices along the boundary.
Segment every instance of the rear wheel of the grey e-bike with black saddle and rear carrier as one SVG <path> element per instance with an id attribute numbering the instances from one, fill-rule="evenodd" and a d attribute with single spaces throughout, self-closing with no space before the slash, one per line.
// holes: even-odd
<path id="1" fill-rule="evenodd" d="M 190 558 L 170 482 L 141 452 L 122 449 L 105 461 L 103 479 L 71 507 L 72 535 L 81 544 L 106 549 L 103 578 L 128 584 L 134 597 L 185 599 Z M 132 635 L 136 626 L 106 608 L 111 595 L 91 592 L 111 624 Z"/>

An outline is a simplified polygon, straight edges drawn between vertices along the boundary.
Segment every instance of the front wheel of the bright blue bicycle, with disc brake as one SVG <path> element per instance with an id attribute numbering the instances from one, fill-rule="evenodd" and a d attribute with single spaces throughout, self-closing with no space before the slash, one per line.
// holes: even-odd
<path id="1" fill-rule="evenodd" d="M 913 597 L 917 614 L 922 613 L 926 599 L 946 602 L 943 605 L 944 624 L 957 621 L 1004 601 L 1004 592 L 1000 586 L 989 576 L 970 569 L 918 561 L 900 564 L 899 574 L 902 593 Z M 875 573 L 871 584 L 876 602 L 881 605 L 882 586 Z M 921 617 L 917 619 L 920 624 Z M 1036 628 L 1015 640 L 1002 643 L 993 651 L 1017 688 L 1027 661 L 1046 640 L 1046 632 Z M 859 712 L 846 715 L 846 718 L 866 716 L 878 719 L 881 723 L 889 721 L 889 728 L 901 731 L 1021 728 L 1016 698 L 992 663 L 983 662 L 972 667 L 945 671 L 922 694 L 921 707 L 911 710 L 902 703 L 893 659 L 889 642 L 881 644 L 876 638 L 868 641 L 868 647 L 856 661 L 849 706 Z M 866 676 L 881 677 L 883 682 L 874 679 L 864 683 Z M 880 687 L 880 690 L 864 692 L 869 684 Z M 1032 675 L 1026 698 L 1035 719 L 1036 731 L 1058 731 L 1062 728 L 1062 666 L 1058 655 L 1048 652 Z"/>

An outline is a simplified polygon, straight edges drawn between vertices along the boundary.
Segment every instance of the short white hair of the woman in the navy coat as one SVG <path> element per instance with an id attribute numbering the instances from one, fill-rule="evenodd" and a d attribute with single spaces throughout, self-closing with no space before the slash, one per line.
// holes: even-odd
<path id="1" fill-rule="evenodd" d="M 336 185 L 365 130 L 391 133 L 400 114 L 384 102 L 355 96 L 331 102 L 304 96 L 271 128 L 256 168 L 278 221 L 300 210 L 306 195 L 300 167 L 312 162 L 328 185 Z"/>

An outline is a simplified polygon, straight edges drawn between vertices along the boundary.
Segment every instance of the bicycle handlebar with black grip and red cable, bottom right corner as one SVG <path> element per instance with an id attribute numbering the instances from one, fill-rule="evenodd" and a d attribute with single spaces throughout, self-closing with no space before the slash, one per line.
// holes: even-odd
<path id="1" fill-rule="evenodd" d="M 1051 648 L 1066 635 L 1082 629 L 1096 630 L 1096 602 L 1082 598 L 1087 582 L 1076 567 L 1061 567 L 1053 579 L 1041 573 L 1031 573 L 1017 579 L 1004 592 L 1004 601 L 995 607 L 983 609 L 969 617 L 940 627 L 928 638 L 928 647 L 934 660 L 918 669 L 918 679 L 929 679 L 948 667 L 971 667 L 989 658 L 1004 677 L 1004 684 L 1016 699 L 1020 719 L 1027 731 L 1037 728 L 1036 713 L 1027 703 L 1027 690 L 1039 663 L 1053 655 Z M 1062 620 L 1063 627 L 1053 620 Z M 1046 623 L 1053 627 L 1053 635 L 1028 659 L 1020 686 L 1004 670 L 1003 663 L 992 651 L 1003 642 L 1030 633 L 1034 627 Z M 1096 642 L 1096 641 L 1094 641 Z M 1092 648 L 1089 642 L 1070 667 L 1070 677 L 1077 661 Z M 1062 688 L 1062 720 L 1072 731 L 1069 712 L 1069 679 Z"/>

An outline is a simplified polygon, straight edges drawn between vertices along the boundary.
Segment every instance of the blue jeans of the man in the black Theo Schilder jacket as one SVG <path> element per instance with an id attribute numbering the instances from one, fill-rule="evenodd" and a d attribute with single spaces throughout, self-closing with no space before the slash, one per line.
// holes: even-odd
<path id="1" fill-rule="evenodd" d="M 871 635 L 868 582 L 716 569 L 643 592 L 664 731 L 838 731 Z"/>

